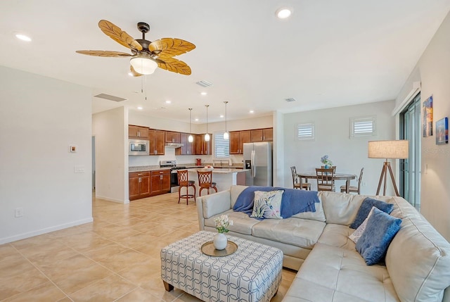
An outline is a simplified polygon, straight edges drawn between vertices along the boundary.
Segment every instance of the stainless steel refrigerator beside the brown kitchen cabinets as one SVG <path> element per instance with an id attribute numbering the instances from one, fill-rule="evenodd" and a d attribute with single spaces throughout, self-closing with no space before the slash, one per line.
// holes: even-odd
<path id="1" fill-rule="evenodd" d="M 272 143 L 245 143 L 244 168 L 247 186 L 272 186 Z"/>

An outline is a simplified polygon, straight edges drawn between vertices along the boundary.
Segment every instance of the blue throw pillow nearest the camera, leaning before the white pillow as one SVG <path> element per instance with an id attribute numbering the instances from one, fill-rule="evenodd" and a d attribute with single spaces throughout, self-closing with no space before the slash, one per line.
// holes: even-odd
<path id="1" fill-rule="evenodd" d="M 399 232 L 401 219 L 385 212 L 373 209 L 367 220 L 366 229 L 356 243 L 356 250 L 366 260 L 367 265 L 374 265 L 383 260 L 395 234 Z"/>

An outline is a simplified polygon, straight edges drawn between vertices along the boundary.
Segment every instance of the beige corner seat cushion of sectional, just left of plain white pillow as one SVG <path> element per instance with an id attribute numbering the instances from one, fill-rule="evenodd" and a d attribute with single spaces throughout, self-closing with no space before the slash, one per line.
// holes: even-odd
<path id="1" fill-rule="evenodd" d="M 355 244 L 349 239 L 349 234 L 353 231 L 354 229 L 350 229 L 347 225 L 328 223 L 317 242 L 355 251 Z"/>

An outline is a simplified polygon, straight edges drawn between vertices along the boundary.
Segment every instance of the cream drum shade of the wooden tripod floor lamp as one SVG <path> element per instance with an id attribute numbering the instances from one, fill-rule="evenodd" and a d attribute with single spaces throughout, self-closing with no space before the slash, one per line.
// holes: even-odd
<path id="1" fill-rule="evenodd" d="M 408 158 L 409 141 L 369 141 L 368 158 Z"/>

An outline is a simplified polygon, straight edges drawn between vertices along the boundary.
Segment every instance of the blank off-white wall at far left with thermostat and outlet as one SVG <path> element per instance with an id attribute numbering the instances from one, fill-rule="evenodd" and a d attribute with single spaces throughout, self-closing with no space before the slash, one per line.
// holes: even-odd
<path id="1" fill-rule="evenodd" d="M 0 244 L 91 222 L 91 89 L 2 66 L 0 83 Z"/>

